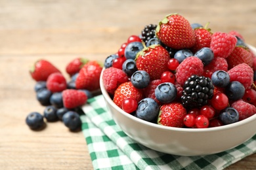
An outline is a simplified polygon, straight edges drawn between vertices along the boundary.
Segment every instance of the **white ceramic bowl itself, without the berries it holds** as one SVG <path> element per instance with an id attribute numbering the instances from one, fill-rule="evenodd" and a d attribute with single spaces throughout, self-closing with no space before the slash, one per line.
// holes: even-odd
<path id="1" fill-rule="evenodd" d="M 250 48 L 256 53 L 256 48 Z M 179 156 L 215 154 L 234 148 L 256 134 L 256 114 L 234 124 L 205 129 L 166 127 L 146 122 L 117 107 L 104 89 L 102 75 L 100 88 L 114 121 L 129 137 L 153 150 Z"/>

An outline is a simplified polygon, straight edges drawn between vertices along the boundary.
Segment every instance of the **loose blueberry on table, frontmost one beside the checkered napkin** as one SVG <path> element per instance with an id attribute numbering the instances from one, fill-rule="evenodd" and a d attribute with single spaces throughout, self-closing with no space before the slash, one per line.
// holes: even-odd
<path id="1" fill-rule="evenodd" d="M 81 127 L 81 120 L 79 114 L 74 111 L 66 112 L 62 117 L 62 122 L 64 122 L 64 125 L 72 131 L 74 131 L 78 127 Z"/>

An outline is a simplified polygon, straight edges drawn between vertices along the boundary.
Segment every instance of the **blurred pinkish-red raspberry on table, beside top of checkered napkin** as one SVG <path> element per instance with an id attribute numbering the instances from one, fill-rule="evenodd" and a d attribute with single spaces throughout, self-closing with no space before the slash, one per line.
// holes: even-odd
<path id="1" fill-rule="evenodd" d="M 64 107 L 74 109 L 87 102 L 87 95 L 79 90 L 66 89 L 62 92 L 62 100 Z"/>

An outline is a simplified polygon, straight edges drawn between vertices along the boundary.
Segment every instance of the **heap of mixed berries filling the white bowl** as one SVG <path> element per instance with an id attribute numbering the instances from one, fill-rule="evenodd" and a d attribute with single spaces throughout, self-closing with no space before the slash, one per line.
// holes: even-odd
<path id="1" fill-rule="evenodd" d="M 256 58 L 237 31 L 170 14 L 106 58 L 103 84 L 127 114 L 161 126 L 224 126 L 256 113 Z"/>

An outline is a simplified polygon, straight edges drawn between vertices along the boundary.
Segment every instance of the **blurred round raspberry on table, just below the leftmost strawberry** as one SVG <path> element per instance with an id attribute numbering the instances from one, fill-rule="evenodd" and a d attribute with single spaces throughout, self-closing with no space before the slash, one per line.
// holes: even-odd
<path id="1" fill-rule="evenodd" d="M 46 86 L 53 93 L 62 92 L 67 88 L 66 78 L 61 73 L 53 73 L 47 78 Z"/>

